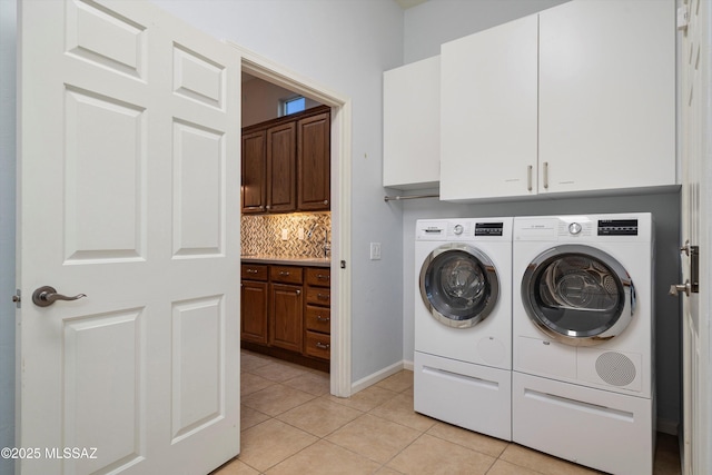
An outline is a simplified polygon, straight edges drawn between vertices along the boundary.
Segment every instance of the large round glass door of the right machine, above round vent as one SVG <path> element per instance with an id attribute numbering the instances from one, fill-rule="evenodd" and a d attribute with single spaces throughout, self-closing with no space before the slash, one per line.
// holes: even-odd
<path id="1" fill-rule="evenodd" d="M 540 254 L 522 279 L 532 321 L 551 338 L 592 346 L 620 335 L 633 319 L 635 288 L 623 266 L 589 246 L 558 246 Z"/>

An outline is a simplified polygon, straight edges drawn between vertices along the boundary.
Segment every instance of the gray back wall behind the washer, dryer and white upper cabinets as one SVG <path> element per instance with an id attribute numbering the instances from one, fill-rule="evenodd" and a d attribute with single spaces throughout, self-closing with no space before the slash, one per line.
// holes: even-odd
<path id="1" fill-rule="evenodd" d="M 405 12 L 405 62 L 439 53 L 439 44 L 525 17 L 567 0 L 428 0 Z M 437 190 L 429 190 L 437 192 Z M 436 199 L 390 201 L 403 209 L 404 359 L 413 360 L 415 221 L 432 217 L 527 216 L 585 212 L 650 211 L 656 225 L 655 307 L 659 429 L 673 433 L 680 422 L 682 385 L 679 300 L 668 289 L 680 275 L 680 192 L 606 198 L 535 199 L 481 205 L 439 202 Z"/>

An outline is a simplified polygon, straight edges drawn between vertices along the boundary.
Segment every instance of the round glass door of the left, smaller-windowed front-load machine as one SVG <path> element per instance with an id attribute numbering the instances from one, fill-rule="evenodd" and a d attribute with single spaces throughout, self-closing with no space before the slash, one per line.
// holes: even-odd
<path id="1" fill-rule="evenodd" d="M 492 313 L 500 296 L 500 279 L 485 254 L 472 246 L 446 244 L 423 263 L 421 296 L 438 321 L 469 328 Z"/>

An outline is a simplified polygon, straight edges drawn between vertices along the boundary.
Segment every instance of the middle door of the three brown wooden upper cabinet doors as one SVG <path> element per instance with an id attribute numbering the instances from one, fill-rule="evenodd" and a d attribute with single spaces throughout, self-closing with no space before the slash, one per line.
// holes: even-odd
<path id="1" fill-rule="evenodd" d="M 294 122 L 267 129 L 267 209 L 296 209 L 296 127 Z"/>

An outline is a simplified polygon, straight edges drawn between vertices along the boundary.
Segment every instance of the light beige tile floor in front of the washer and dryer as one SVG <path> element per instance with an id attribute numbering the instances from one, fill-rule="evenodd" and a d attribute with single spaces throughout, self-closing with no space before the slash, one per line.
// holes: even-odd
<path id="1" fill-rule="evenodd" d="M 413 412 L 408 370 L 338 398 L 325 373 L 241 356 L 241 452 L 212 475 L 600 474 Z M 680 473 L 676 437 L 659 434 L 654 474 Z"/>

